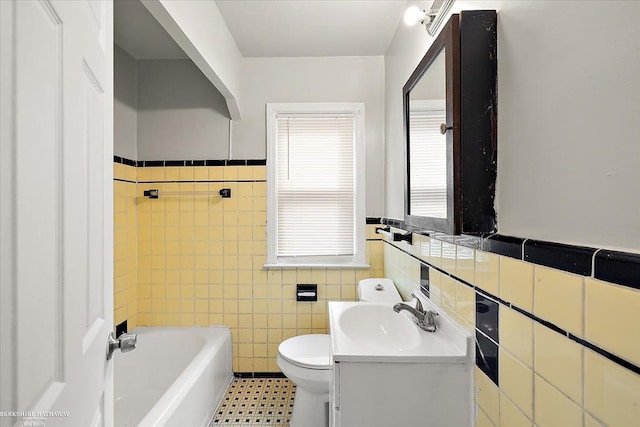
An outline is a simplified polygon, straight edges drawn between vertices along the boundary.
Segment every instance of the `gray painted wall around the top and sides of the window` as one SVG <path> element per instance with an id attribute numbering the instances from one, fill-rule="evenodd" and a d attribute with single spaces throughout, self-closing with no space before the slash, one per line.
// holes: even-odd
<path id="1" fill-rule="evenodd" d="M 366 215 L 384 208 L 384 58 L 245 58 L 242 117 L 233 122 L 231 158 L 264 159 L 271 102 L 364 102 Z"/>

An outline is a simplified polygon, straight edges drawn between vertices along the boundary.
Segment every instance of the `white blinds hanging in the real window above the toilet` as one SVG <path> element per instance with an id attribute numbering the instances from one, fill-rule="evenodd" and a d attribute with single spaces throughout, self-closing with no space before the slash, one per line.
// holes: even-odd
<path id="1" fill-rule="evenodd" d="M 355 253 L 353 115 L 277 116 L 277 256 Z"/>

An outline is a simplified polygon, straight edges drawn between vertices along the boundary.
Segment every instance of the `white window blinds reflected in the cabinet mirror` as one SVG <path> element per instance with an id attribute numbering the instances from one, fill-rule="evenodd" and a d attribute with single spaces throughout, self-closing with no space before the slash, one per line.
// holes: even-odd
<path id="1" fill-rule="evenodd" d="M 440 133 L 440 124 L 445 120 L 442 110 L 414 112 L 412 107 L 411 215 L 447 217 L 447 138 Z"/>

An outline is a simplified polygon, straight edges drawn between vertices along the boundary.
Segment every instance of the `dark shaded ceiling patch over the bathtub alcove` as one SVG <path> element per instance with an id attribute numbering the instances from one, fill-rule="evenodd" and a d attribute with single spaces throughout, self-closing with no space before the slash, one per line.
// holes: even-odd
<path id="1" fill-rule="evenodd" d="M 114 38 L 135 59 L 187 58 L 139 0 L 116 0 L 113 5 Z"/>

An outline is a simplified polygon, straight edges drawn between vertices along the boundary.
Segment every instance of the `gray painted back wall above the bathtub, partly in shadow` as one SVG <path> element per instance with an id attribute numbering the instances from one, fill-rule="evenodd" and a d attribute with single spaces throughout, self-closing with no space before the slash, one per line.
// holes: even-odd
<path id="1" fill-rule="evenodd" d="M 138 159 L 227 159 L 225 99 L 189 59 L 138 61 Z"/>

